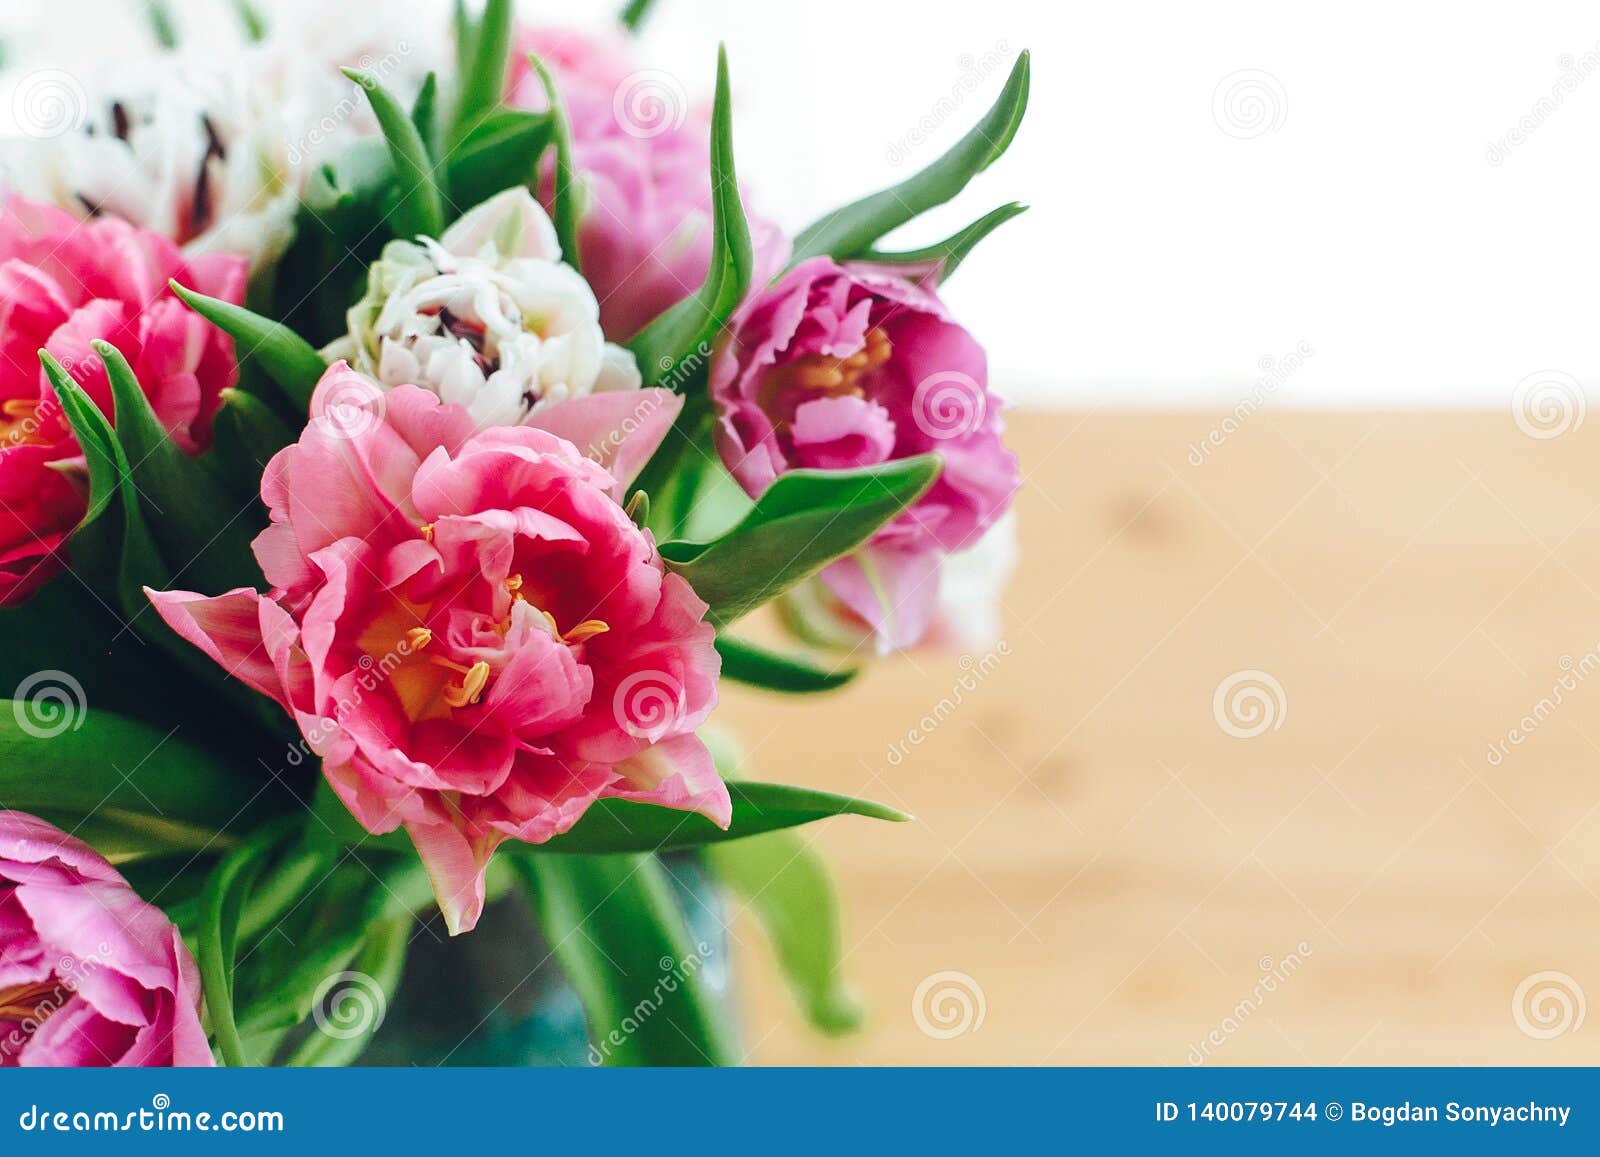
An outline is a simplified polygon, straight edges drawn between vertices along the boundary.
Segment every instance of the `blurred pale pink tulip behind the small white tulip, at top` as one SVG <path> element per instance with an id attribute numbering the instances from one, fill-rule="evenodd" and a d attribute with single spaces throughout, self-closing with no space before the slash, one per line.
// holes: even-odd
<path id="1" fill-rule="evenodd" d="M 678 78 L 642 69 L 619 37 L 528 29 L 514 53 L 510 102 L 542 109 L 528 69 L 538 54 L 555 77 L 573 126 L 574 165 L 587 211 L 578 232 L 584 277 L 600 299 L 600 323 L 626 341 L 669 306 L 693 294 L 710 267 L 710 120 L 690 107 Z M 554 178 L 539 198 L 554 208 Z M 746 200 L 749 200 L 746 197 Z M 765 285 L 789 256 L 789 240 L 752 214 L 752 285 Z"/>

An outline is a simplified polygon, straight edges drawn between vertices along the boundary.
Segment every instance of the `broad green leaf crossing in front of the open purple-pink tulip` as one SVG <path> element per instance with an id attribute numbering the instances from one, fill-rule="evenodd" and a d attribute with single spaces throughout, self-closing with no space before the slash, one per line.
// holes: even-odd
<path id="1" fill-rule="evenodd" d="M 789 470 L 726 534 L 662 542 L 661 557 L 710 603 L 714 623 L 733 623 L 862 546 L 938 477 L 938 454 L 858 470 Z"/>

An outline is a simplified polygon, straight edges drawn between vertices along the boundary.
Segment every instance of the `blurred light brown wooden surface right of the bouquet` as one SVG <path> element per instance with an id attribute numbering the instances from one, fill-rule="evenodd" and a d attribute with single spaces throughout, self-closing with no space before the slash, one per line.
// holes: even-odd
<path id="1" fill-rule="evenodd" d="M 763 776 L 917 815 L 814 829 L 861 1034 L 736 920 L 752 1063 L 1600 1063 L 1600 422 L 1256 413 L 1192 453 L 1218 424 L 1011 414 L 1010 655 L 898 765 L 958 656 L 725 696 Z"/>

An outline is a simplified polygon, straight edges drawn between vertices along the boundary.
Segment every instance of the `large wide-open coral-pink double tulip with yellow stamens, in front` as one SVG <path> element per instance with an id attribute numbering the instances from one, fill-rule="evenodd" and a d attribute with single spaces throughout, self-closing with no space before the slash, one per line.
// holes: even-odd
<path id="1" fill-rule="evenodd" d="M 293 715 L 366 831 L 406 829 L 453 933 L 496 845 L 598 799 L 730 821 L 694 735 L 720 671 L 706 603 L 618 506 L 680 405 L 595 394 L 478 432 L 336 363 L 261 483 L 270 595 L 149 592 Z"/>

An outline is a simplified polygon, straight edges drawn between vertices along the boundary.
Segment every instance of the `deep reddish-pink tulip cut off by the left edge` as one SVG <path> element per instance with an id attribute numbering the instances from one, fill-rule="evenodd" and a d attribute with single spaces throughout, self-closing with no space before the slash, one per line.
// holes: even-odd
<path id="1" fill-rule="evenodd" d="M 176 277 L 242 301 L 243 258 L 184 259 L 166 238 L 117 218 L 77 221 L 13 197 L 0 206 L 0 605 L 24 600 L 66 565 L 83 517 L 78 445 L 38 363 L 46 349 L 107 418 L 109 341 L 133 366 L 179 446 L 210 442 L 211 418 L 238 366 L 234 344 L 168 290 Z"/>

